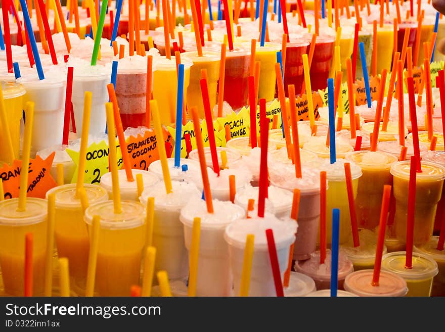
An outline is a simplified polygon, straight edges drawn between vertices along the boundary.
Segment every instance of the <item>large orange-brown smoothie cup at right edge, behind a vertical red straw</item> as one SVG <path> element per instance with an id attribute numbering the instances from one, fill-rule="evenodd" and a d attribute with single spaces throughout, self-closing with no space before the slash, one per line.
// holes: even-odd
<path id="1" fill-rule="evenodd" d="M 426 244 L 432 235 L 437 203 L 442 195 L 445 168 L 434 163 L 421 162 L 422 173 L 416 174 L 416 204 L 414 211 L 414 244 Z M 395 235 L 405 242 L 407 238 L 408 192 L 410 162 L 392 164 L 395 197 Z"/>

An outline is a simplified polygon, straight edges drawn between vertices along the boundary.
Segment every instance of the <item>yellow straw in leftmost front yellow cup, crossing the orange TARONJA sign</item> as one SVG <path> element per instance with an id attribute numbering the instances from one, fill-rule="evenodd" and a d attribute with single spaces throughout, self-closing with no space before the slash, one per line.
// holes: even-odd
<path id="1" fill-rule="evenodd" d="M 34 122 L 34 103 L 26 103 L 26 124 L 23 135 L 22 170 L 20 171 L 19 206 L 17 212 L 26 210 L 26 192 L 28 189 L 28 165 L 31 154 L 32 124 Z"/>

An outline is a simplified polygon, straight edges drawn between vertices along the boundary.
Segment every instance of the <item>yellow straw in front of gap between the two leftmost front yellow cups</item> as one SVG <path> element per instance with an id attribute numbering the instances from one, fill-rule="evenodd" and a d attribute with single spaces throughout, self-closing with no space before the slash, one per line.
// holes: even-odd
<path id="1" fill-rule="evenodd" d="M 53 290 L 53 252 L 54 252 L 54 223 L 56 219 L 56 194 L 48 195 L 48 226 L 47 251 L 45 253 L 44 296 L 51 296 Z"/>

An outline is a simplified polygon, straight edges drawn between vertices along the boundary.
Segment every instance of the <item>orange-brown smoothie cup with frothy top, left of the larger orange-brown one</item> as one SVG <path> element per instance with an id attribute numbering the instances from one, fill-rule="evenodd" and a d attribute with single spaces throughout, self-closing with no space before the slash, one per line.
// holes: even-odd
<path id="1" fill-rule="evenodd" d="M 383 187 L 392 186 L 391 165 L 397 158 L 384 152 L 356 151 L 346 155 L 362 168 L 363 175 L 359 179 L 355 211 L 359 227 L 374 229 L 380 221 Z"/>

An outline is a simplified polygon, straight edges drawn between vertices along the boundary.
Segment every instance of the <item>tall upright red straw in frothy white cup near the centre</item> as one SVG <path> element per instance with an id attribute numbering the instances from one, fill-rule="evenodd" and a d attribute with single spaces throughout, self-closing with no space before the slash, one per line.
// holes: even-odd
<path id="1" fill-rule="evenodd" d="M 258 217 L 264 217 L 264 203 L 268 191 L 268 139 L 269 119 L 266 118 L 266 100 L 259 100 L 259 132 L 261 140 L 261 153 L 259 163 L 259 190 L 258 190 Z"/>

